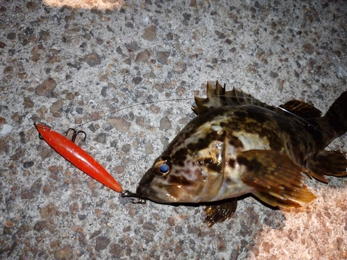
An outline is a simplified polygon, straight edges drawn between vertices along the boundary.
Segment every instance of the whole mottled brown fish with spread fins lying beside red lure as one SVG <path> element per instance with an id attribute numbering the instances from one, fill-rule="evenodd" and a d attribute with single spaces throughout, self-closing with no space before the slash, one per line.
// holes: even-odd
<path id="1" fill-rule="evenodd" d="M 164 204 L 206 205 L 212 226 L 232 216 L 237 198 L 251 193 L 273 207 L 301 207 L 316 196 L 305 176 L 347 175 L 347 153 L 324 150 L 347 132 L 347 91 L 322 112 L 292 100 L 267 105 L 218 81 L 207 98 L 194 96 L 197 115 L 139 181 L 134 196 Z M 212 202 L 212 203 L 211 203 Z"/>

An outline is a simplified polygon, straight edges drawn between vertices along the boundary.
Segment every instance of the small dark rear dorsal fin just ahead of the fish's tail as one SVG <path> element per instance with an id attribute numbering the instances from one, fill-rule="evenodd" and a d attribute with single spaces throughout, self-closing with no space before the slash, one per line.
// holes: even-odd
<path id="1" fill-rule="evenodd" d="M 296 116 L 305 117 L 309 119 L 320 117 L 322 114 L 322 112 L 316 109 L 316 107 L 314 107 L 313 105 L 304 103 L 302 101 L 288 101 L 287 103 L 280 105 L 280 107 L 282 107 L 283 110 L 281 110 L 280 108 L 276 108 L 276 112 L 285 112 L 286 115 L 288 115 L 288 111 L 295 114 Z"/>

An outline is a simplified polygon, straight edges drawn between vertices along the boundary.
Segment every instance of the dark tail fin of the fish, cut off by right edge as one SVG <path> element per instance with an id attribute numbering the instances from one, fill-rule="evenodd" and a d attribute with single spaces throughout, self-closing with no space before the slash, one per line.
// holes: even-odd
<path id="1" fill-rule="evenodd" d="M 339 98 L 332 103 L 324 116 L 337 133 L 337 137 L 347 132 L 347 91 L 342 93 Z"/>

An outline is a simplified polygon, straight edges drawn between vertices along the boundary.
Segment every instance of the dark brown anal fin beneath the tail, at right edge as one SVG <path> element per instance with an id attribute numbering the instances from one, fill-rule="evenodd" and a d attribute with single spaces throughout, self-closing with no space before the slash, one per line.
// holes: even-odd
<path id="1" fill-rule="evenodd" d="M 310 177 L 328 183 L 324 175 L 343 177 L 347 175 L 347 153 L 341 150 L 322 150 L 307 162 Z"/>

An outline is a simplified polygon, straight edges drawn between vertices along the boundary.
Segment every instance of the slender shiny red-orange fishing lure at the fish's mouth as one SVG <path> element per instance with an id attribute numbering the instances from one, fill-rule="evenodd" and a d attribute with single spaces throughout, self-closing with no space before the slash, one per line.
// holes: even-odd
<path id="1" fill-rule="evenodd" d="M 93 177 L 98 182 L 101 182 L 105 186 L 113 189 L 117 192 L 123 191 L 121 185 L 108 173 L 108 171 L 96 162 L 92 156 L 90 156 L 80 146 L 73 141 L 67 139 L 67 137 L 60 135 L 60 133 L 53 131 L 48 125 L 44 123 L 34 123 L 37 131 L 40 133 L 40 137 L 46 141 L 57 153 L 62 155 L 71 164 L 74 164 L 90 177 Z"/>

